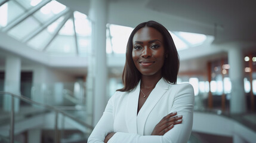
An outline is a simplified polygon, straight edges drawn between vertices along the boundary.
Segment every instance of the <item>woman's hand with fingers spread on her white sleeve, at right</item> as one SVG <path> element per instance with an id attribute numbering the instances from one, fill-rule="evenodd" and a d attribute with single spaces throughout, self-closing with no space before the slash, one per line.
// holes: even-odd
<path id="1" fill-rule="evenodd" d="M 171 130 L 174 125 L 182 122 L 182 116 L 175 116 L 177 112 L 166 115 L 153 129 L 151 135 L 164 135 Z M 173 117 L 175 116 L 175 117 Z"/>

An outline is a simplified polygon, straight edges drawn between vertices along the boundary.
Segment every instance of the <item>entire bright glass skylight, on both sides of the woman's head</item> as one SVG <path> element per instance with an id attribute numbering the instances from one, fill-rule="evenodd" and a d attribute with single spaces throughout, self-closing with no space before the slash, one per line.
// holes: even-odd
<path id="1" fill-rule="evenodd" d="M 107 24 L 106 53 L 124 54 L 132 29 Z M 5 2 L 0 7 L 0 30 L 50 55 L 87 56 L 91 48 L 91 21 L 87 15 L 55 0 Z M 206 39 L 196 33 L 170 33 L 178 50 L 198 46 Z"/>

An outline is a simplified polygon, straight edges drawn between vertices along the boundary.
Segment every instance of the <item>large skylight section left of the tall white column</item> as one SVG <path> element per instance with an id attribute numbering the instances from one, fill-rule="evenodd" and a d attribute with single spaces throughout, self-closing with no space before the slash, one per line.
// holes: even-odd
<path id="1" fill-rule="evenodd" d="M 0 7 L 0 30 L 30 48 L 57 56 L 87 56 L 91 22 L 55 0 L 10 0 Z"/>

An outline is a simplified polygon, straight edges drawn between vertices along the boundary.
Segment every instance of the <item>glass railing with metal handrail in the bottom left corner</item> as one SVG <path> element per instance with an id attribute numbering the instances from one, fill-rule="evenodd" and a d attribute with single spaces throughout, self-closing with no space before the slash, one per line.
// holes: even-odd
<path id="1" fill-rule="evenodd" d="M 10 92 L 0 96 L 7 101 L 0 110 L 0 142 L 87 142 L 92 131 L 84 106 L 54 107 Z"/>

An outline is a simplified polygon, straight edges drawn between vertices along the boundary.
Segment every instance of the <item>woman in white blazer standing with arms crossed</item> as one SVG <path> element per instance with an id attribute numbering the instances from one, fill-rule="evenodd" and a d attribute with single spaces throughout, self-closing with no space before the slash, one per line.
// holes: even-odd
<path id="1" fill-rule="evenodd" d="M 178 68 L 177 49 L 164 26 L 148 21 L 135 27 L 127 43 L 124 88 L 110 98 L 88 142 L 187 142 L 194 92 L 189 83 L 176 84 Z"/>

